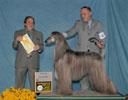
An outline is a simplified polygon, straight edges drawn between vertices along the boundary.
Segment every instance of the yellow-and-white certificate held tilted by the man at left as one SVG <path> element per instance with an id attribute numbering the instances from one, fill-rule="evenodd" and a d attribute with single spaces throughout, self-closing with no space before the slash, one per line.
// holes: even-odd
<path id="1" fill-rule="evenodd" d="M 23 35 L 23 39 L 20 41 L 23 47 L 25 48 L 27 54 L 31 53 L 34 50 L 34 43 L 28 36 L 28 34 Z"/>

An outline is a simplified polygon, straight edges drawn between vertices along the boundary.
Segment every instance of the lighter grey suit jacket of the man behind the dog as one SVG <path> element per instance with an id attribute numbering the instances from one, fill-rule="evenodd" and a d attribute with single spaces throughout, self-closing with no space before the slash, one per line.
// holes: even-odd
<path id="1" fill-rule="evenodd" d="M 88 49 L 91 52 L 100 53 L 101 49 L 97 45 L 88 41 L 89 38 L 95 37 L 98 40 L 102 41 L 105 44 L 105 39 L 99 38 L 99 33 L 103 32 L 102 24 L 96 20 L 92 19 L 91 28 L 88 27 L 88 23 L 85 23 L 81 20 L 77 20 L 75 25 L 68 31 L 66 31 L 68 37 L 78 33 L 78 51 L 86 52 Z"/>

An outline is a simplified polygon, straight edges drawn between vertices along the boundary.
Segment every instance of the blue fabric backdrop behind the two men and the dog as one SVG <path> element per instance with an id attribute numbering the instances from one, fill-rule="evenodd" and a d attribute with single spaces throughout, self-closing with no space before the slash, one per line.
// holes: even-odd
<path id="1" fill-rule="evenodd" d="M 119 93 L 128 93 L 128 0 L 0 0 L 0 92 L 15 86 L 14 62 L 16 51 L 12 49 L 14 32 L 24 28 L 24 18 L 33 16 L 35 29 L 41 31 L 44 40 L 52 31 L 64 32 L 75 20 L 80 19 L 80 8 L 90 6 L 93 18 L 103 23 L 106 41 L 106 70 Z M 77 36 L 68 40 L 76 49 Z M 40 55 L 40 72 L 53 72 L 54 46 L 45 46 Z M 27 79 L 26 88 L 29 88 Z M 73 83 L 80 90 L 79 83 Z"/>

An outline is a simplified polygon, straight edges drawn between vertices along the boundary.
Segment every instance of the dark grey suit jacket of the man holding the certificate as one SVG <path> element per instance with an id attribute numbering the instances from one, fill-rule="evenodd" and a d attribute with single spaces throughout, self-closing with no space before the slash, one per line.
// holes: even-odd
<path id="1" fill-rule="evenodd" d="M 19 30 L 15 32 L 14 41 L 13 41 L 13 48 L 17 50 L 15 67 L 25 67 L 27 59 L 27 52 L 25 51 L 24 47 L 20 42 L 15 42 L 18 36 L 23 36 L 26 34 L 25 29 Z M 43 51 L 43 34 L 35 29 L 32 30 L 32 41 L 35 45 L 40 46 L 40 50 L 33 51 L 31 54 L 32 56 L 29 58 L 29 67 L 31 68 L 39 68 L 40 59 L 39 53 Z"/>

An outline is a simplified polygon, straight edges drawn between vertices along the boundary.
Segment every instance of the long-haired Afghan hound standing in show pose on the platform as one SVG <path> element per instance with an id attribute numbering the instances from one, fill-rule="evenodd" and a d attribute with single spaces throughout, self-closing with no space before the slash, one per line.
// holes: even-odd
<path id="1" fill-rule="evenodd" d="M 45 40 L 47 44 L 52 42 L 55 42 L 56 94 L 72 95 L 72 81 L 79 81 L 85 76 L 88 76 L 93 90 L 109 94 L 117 93 L 115 85 L 106 74 L 104 58 L 100 54 L 71 50 L 60 32 L 52 32 Z"/>

